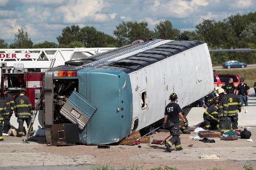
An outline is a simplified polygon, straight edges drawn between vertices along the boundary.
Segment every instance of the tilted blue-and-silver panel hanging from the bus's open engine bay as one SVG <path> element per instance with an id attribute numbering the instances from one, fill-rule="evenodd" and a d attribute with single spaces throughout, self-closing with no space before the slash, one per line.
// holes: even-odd
<path id="1" fill-rule="evenodd" d="M 85 97 L 81 96 L 79 93 L 73 91 L 61 108 L 60 113 L 73 124 L 79 124 L 79 128 L 82 130 L 96 111 L 97 108 L 90 103 L 90 101 L 86 100 Z"/>

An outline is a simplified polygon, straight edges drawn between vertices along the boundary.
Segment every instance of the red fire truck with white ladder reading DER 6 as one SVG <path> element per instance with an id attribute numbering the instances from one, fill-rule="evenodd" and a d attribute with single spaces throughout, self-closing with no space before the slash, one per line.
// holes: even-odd
<path id="1" fill-rule="evenodd" d="M 81 63 L 113 48 L 0 49 L 1 88 L 9 87 L 15 98 L 25 88 L 35 107 L 44 86 L 44 72 L 65 62 Z"/>

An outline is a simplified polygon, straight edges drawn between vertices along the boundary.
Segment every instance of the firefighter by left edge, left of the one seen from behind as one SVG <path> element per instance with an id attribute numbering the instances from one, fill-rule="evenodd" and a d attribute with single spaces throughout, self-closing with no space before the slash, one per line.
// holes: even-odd
<path id="1" fill-rule="evenodd" d="M 3 133 L 4 135 L 8 135 L 8 131 L 11 128 L 10 119 L 14 111 L 15 103 L 13 100 L 13 96 L 11 96 L 8 93 L 7 86 L 3 86 L 2 92 L 3 92 L 2 99 L 5 101 L 5 104 L 6 104 L 6 112 L 3 113 Z"/>

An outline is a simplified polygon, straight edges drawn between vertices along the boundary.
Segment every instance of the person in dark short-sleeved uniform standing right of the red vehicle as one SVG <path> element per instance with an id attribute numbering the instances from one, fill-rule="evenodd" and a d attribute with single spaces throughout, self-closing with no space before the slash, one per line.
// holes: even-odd
<path id="1" fill-rule="evenodd" d="M 247 106 L 250 87 L 245 83 L 245 79 L 241 78 L 240 82 L 241 83 L 237 86 L 237 95 L 239 96 L 240 101 L 242 101 L 242 104 L 244 103 Z"/>

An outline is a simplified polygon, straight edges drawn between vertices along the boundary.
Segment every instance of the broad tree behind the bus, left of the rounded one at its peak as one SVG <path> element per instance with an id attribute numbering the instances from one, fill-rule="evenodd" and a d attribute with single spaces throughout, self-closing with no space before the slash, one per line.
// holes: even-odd
<path id="1" fill-rule="evenodd" d="M 150 31 L 146 22 L 122 22 L 116 26 L 114 35 L 117 37 L 117 45 L 123 46 L 136 37 L 151 38 L 154 32 Z"/>

